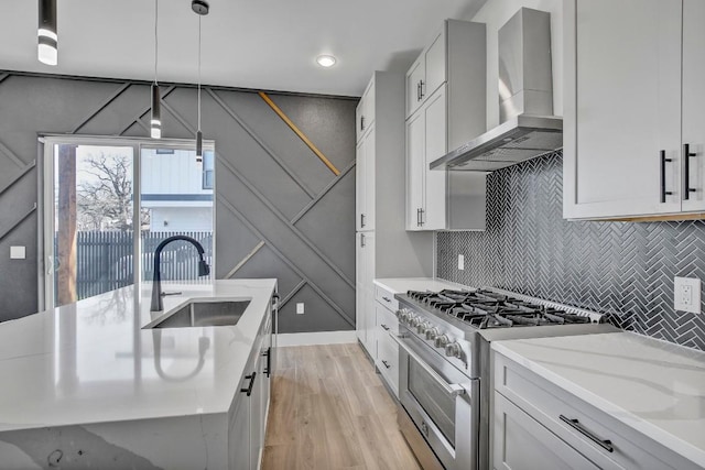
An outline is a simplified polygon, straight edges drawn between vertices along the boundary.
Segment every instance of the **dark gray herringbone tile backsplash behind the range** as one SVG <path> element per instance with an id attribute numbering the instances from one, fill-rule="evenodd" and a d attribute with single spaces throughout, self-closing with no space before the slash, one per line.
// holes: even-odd
<path id="1" fill-rule="evenodd" d="M 625 329 L 705 350 L 705 313 L 673 308 L 674 276 L 705 281 L 705 222 L 564 220 L 562 171 L 558 152 L 488 175 L 487 230 L 440 232 L 438 276 L 607 313 Z"/>

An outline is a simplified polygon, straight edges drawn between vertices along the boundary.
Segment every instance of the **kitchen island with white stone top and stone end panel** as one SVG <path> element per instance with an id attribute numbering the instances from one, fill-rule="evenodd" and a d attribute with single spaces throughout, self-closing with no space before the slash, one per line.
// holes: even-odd
<path id="1" fill-rule="evenodd" d="M 234 467 L 276 281 L 163 288 L 163 313 L 144 283 L 0 324 L 0 469 Z M 250 303 L 232 326 L 144 328 L 191 300 Z"/>

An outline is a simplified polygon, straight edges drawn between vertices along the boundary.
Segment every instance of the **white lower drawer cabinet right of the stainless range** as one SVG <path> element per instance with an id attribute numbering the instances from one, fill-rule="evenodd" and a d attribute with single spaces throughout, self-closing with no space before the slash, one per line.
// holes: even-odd
<path id="1" fill-rule="evenodd" d="M 519 363 L 497 352 L 494 362 L 494 469 L 698 468 Z"/>

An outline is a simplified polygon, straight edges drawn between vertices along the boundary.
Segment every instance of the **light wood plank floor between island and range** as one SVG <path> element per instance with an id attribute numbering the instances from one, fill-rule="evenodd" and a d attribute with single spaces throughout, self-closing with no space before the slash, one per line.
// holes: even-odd
<path id="1" fill-rule="evenodd" d="M 358 345 L 279 349 L 263 470 L 419 469 Z"/>

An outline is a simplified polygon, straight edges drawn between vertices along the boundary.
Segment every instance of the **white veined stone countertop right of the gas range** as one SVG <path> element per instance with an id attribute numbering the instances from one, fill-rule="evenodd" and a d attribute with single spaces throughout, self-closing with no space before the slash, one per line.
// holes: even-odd
<path id="1" fill-rule="evenodd" d="M 705 352 L 632 332 L 492 349 L 705 468 Z"/>

